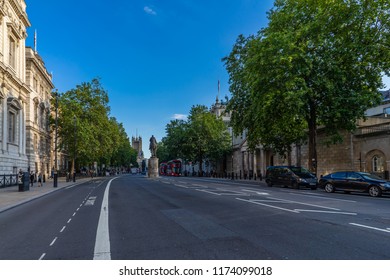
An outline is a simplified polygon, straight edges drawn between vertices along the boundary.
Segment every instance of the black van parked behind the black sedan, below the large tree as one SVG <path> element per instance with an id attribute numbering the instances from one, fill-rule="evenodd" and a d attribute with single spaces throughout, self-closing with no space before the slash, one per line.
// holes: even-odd
<path id="1" fill-rule="evenodd" d="M 267 168 L 265 182 L 268 186 L 282 185 L 298 189 L 317 188 L 317 177 L 307 169 L 298 166 L 270 166 Z"/>

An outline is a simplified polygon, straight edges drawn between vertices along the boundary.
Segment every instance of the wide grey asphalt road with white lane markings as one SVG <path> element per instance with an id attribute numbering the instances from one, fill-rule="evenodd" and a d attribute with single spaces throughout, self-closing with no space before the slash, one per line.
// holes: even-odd
<path id="1" fill-rule="evenodd" d="M 124 175 L 0 214 L 0 259 L 390 259 L 390 197 Z"/>

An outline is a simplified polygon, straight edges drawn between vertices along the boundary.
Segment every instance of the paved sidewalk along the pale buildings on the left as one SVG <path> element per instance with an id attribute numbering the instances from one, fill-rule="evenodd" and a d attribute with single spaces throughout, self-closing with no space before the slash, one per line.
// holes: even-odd
<path id="1" fill-rule="evenodd" d="M 57 187 L 53 187 L 53 179 L 46 180 L 42 187 L 38 187 L 38 182 L 30 187 L 29 191 L 19 192 L 19 186 L 12 186 L 0 189 L 0 213 L 14 208 L 20 204 L 37 199 L 41 196 L 58 191 L 65 187 L 78 185 L 90 181 L 90 177 L 76 178 L 76 182 L 66 182 L 65 177 L 58 178 Z"/>

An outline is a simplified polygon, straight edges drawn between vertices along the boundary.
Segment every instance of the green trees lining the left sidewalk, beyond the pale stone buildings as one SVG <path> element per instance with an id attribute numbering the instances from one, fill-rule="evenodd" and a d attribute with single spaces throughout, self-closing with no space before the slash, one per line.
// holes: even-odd
<path id="1" fill-rule="evenodd" d="M 134 160 L 136 152 L 122 124 L 109 117 L 108 93 L 99 79 L 55 95 L 58 98 L 59 150 L 67 151 L 71 159 L 76 158 L 79 166 L 90 166 L 93 162 L 128 166 Z M 53 98 L 53 110 L 55 103 Z M 72 171 L 74 168 L 72 161 Z"/>

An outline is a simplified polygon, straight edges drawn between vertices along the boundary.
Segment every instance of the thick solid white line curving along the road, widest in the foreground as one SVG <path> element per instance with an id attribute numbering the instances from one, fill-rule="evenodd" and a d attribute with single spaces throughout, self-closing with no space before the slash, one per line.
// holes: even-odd
<path id="1" fill-rule="evenodd" d="M 96 231 L 95 249 L 93 253 L 94 260 L 111 260 L 110 247 L 110 232 L 108 227 L 108 195 L 111 182 L 116 178 L 111 179 L 104 191 L 102 208 L 100 209 L 99 223 Z"/>

